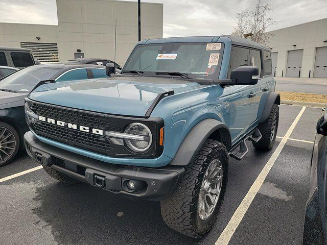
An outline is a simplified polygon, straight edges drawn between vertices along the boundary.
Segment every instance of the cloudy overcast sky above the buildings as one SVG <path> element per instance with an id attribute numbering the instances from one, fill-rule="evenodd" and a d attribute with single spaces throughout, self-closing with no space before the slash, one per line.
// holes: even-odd
<path id="1" fill-rule="evenodd" d="M 133 1 L 133 0 L 131 0 Z M 136 0 L 135 0 L 136 1 Z M 235 13 L 258 0 L 149 0 L 164 4 L 164 37 L 229 35 Z M 262 0 L 277 23 L 268 31 L 326 18 L 326 0 Z M 0 0 L 0 22 L 57 24 L 55 0 Z"/>

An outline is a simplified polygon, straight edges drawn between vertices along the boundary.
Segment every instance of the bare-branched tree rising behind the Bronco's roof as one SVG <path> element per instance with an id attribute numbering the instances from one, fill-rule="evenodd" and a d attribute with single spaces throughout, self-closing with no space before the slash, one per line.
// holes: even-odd
<path id="1" fill-rule="evenodd" d="M 272 18 L 268 17 L 267 13 L 272 11 L 270 4 L 255 5 L 253 10 L 243 10 L 236 14 L 236 27 L 233 36 L 245 37 L 254 42 L 259 42 L 267 45 L 267 39 L 271 34 L 266 33 L 267 28 L 276 23 Z"/>

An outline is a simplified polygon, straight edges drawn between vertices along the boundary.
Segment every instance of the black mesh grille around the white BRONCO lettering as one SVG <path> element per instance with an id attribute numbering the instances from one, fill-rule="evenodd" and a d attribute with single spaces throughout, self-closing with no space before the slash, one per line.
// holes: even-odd
<path id="1" fill-rule="evenodd" d="M 71 109 L 60 106 L 53 106 L 43 103 L 28 101 L 31 110 L 46 118 L 52 118 L 71 124 L 76 124 L 77 127 L 85 126 L 90 129 L 101 129 L 105 131 L 124 132 L 125 128 L 132 122 L 141 121 L 147 125 L 153 132 L 153 136 L 157 135 L 157 122 L 147 119 L 131 118 L 123 116 L 108 115 L 102 113 L 94 113 Z M 36 121 L 30 125 L 30 128 L 38 135 L 63 142 L 77 148 L 100 153 L 108 156 L 119 157 L 155 157 L 156 142 L 152 143 L 151 148 L 145 154 L 133 153 L 124 145 L 113 144 L 110 139 L 80 130 L 69 129 L 55 124 L 50 124 L 44 121 Z M 156 137 L 154 137 L 156 138 Z"/>

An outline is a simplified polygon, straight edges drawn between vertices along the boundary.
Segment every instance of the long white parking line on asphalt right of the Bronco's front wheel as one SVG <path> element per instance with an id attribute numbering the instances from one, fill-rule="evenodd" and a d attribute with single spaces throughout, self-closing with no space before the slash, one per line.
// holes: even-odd
<path id="1" fill-rule="evenodd" d="M 227 226 L 225 227 L 224 231 L 220 234 L 220 236 L 219 236 L 218 240 L 216 241 L 215 245 L 227 245 L 228 244 L 230 238 L 232 237 L 232 235 L 236 231 L 237 227 L 240 225 L 240 223 L 241 223 L 241 221 L 242 221 L 242 219 L 244 217 L 244 214 L 246 213 L 249 206 L 251 205 L 256 193 L 258 193 L 260 187 L 264 183 L 264 181 L 265 181 L 271 167 L 274 165 L 277 157 L 282 152 L 282 150 L 283 150 L 283 148 L 284 148 L 284 146 L 286 144 L 286 141 L 289 139 L 291 133 L 293 132 L 297 122 L 299 121 L 299 119 L 300 119 L 301 115 L 303 114 L 303 112 L 305 111 L 305 109 L 306 109 L 306 107 L 303 106 L 301 111 L 298 113 L 298 115 L 294 119 L 291 127 L 288 129 L 288 131 L 285 134 L 285 136 L 283 137 L 282 141 L 278 144 L 276 150 L 274 151 L 274 153 L 269 158 L 268 162 L 266 163 L 266 165 L 262 169 L 259 176 L 253 182 L 251 188 L 249 189 L 249 191 L 245 195 L 243 201 L 241 202 L 241 204 L 239 205 L 239 207 L 236 209 L 235 213 L 233 214 L 233 216 L 229 220 L 229 222 L 228 222 Z"/>

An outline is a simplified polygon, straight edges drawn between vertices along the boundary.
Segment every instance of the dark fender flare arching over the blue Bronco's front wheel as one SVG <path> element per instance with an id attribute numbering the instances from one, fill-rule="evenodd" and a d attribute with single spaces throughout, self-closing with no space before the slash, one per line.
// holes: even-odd
<path id="1" fill-rule="evenodd" d="M 200 151 L 205 140 L 213 135 L 217 130 L 221 129 L 224 135 L 221 135 L 224 143 L 229 150 L 231 147 L 231 137 L 227 125 L 216 119 L 207 118 L 195 125 L 186 135 L 183 142 L 180 144 L 174 159 L 170 165 L 185 166 L 193 162 L 196 155 Z"/>

